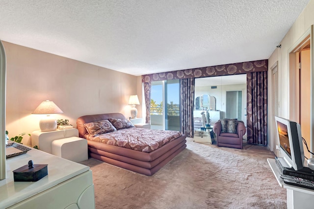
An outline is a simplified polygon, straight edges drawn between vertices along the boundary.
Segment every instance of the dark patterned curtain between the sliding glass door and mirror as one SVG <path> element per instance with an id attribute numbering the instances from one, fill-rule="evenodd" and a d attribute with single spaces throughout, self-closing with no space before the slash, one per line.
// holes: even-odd
<path id="1" fill-rule="evenodd" d="M 195 78 L 180 79 L 181 131 L 188 137 L 194 137 L 194 87 Z"/>

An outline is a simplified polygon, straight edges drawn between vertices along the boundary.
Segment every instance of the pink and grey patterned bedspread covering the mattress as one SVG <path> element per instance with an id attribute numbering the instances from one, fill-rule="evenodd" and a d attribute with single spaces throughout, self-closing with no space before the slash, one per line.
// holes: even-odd
<path id="1" fill-rule="evenodd" d="M 91 141 L 150 153 L 181 135 L 179 131 L 130 128 L 104 133 L 94 137 L 87 134 L 85 138 Z"/>

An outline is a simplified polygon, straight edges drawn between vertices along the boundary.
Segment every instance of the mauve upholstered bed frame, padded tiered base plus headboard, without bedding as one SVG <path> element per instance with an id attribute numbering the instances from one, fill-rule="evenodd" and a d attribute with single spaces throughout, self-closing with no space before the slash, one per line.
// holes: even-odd
<path id="1" fill-rule="evenodd" d="M 79 136 L 84 137 L 84 134 L 86 134 L 85 127 L 83 127 L 84 123 L 105 120 L 110 117 L 120 119 L 124 118 L 124 116 L 120 113 L 86 115 L 78 118 L 77 128 L 79 131 Z M 162 166 L 167 164 L 171 159 L 173 159 L 185 149 L 185 138 L 186 136 L 182 135 L 151 153 L 130 150 L 127 148 L 107 145 L 91 140 L 87 140 L 87 143 L 90 157 L 140 174 L 152 176 Z"/>

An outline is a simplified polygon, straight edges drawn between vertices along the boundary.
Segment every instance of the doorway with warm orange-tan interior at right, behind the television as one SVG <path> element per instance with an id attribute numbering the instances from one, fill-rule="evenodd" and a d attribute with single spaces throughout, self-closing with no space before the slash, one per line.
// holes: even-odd
<path id="1" fill-rule="evenodd" d="M 301 134 L 311 152 L 313 143 L 314 83 L 313 25 L 296 42 L 289 52 L 289 119 L 301 126 Z M 303 143 L 304 155 L 313 156 Z"/>

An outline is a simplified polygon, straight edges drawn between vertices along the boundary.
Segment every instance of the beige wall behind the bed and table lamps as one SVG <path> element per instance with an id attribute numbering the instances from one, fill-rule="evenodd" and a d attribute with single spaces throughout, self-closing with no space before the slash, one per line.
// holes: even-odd
<path id="1" fill-rule="evenodd" d="M 52 100 L 63 114 L 56 119 L 76 119 L 87 114 L 121 112 L 130 116 L 131 94 L 139 94 L 140 77 L 77 60 L 3 42 L 7 60 L 6 130 L 9 137 L 39 130 L 41 115 L 31 112 Z M 138 89 L 139 88 L 139 89 Z M 142 115 L 137 105 L 138 117 Z M 30 144 L 25 136 L 24 144 Z"/>

